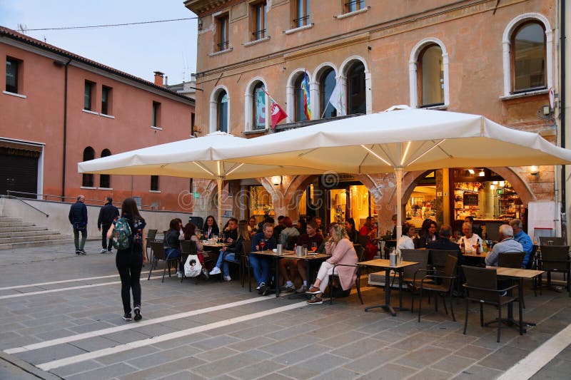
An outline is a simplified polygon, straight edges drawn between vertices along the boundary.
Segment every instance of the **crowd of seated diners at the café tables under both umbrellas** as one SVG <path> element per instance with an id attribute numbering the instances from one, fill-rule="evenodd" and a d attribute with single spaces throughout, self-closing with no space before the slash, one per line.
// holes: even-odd
<path id="1" fill-rule="evenodd" d="M 393 221 L 396 219 L 393 217 Z M 396 250 L 405 249 L 433 249 L 433 250 L 456 250 L 460 263 L 464 263 L 464 253 L 473 250 L 485 251 L 485 244 L 482 238 L 473 231 L 473 220 L 467 217 L 463 224 L 463 236 L 455 241 L 452 239 L 452 227 L 450 225 L 440 226 L 437 232 L 436 222 L 433 220 L 425 220 L 420 232 L 417 233 L 415 225 L 404 223 L 403 235 L 396 242 Z M 395 237 L 395 229 L 393 237 Z M 489 266 L 497 266 L 498 255 L 501 252 L 525 252 L 525 258 L 522 267 L 527 266 L 530 260 L 533 243 L 530 237 L 522 230 L 522 221 L 519 219 L 510 220 L 509 224 L 500 226 L 500 239 L 493 245 L 492 250 L 485 255 L 485 264 Z M 183 226 L 182 220 L 173 219 L 170 222 L 169 229 L 165 233 L 163 245 L 167 258 L 175 259 L 181 257 L 181 240 L 190 240 L 191 244 L 196 245 L 198 258 L 203 262 L 201 252 L 205 246 L 208 247 L 208 241 L 219 237 L 223 243 L 220 248 L 220 254 L 216 258 L 216 264 L 206 269 L 203 266 L 203 274 L 223 274 L 223 279 L 231 281 L 230 268 L 228 262 L 236 260 L 236 257 L 243 250 L 243 242 L 251 241 L 251 252 L 249 252 L 249 262 L 256 279 L 256 290 L 260 294 L 268 294 L 270 290 L 271 280 L 271 257 L 258 255 L 256 252 L 263 250 L 275 250 L 278 244 L 284 249 L 292 249 L 293 245 L 303 245 L 310 247 L 311 250 L 317 250 L 319 253 L 330 255 L 327 260 L 323 261 L 315 276 L 313 285 L 308 286 L 306 260 L 297 260 L 295 257 L 287 257 L 288 260 L 279 262 L 279 272 L 284 279 L 281 287 L 282 292 L 298 292 L 311 295 L 308 304 L 323 303 L 322 295 L 328 286 L 330 274 L 333 274 L 335 265 L 335 274 L 338 276 L 340 287 L 343 290 L 350 289 L 356 281 L 356 267 L 358 256 L 355 252 L 355 245 L 363 242 L 365 245 L 365 260 L 373 259 L 377 254 L 378 247 L 376 244 L 377 227 L 373 217 L 367 217 L 360 230 L 356 230 L 355 221 L 349 218 L 343 225 L 332 223 L 329 226 L 328 234 L 322 227 L 322 221 L 319 217 L 313 217 L 311 220 L 299 220 L 297 225 L 293 225 L 290 217 L 278 217 L 278 223 L 275 225 L 273 217 L 266 216 L 263 222 L 256 225 L 256 219 L 251 217 L 248 220 L 237 220 L 231 217 L 222 231 L 218 227 L 215 218 L 209 215 L 204 222 L 202 230 L 198 230 L 196 225 L 188 222 Z M 197 236 L 198 235 L 198 236 Z M 201 240 L 203 237 L 203 240 Z M 361 238 L 360 238 L 361 237 Z M 318 247 L 318 248 L 317 248 Z M 181 262 L 177 271 L 177 276 L 183 276 L 183 265 Z M 345 266 L 346 265 L 346 266 Z M 301 277 L 303 283 L 295 288 L 293 279 L 297 276 Z M 279 284 L 275 284 L 279 286 Z"/>

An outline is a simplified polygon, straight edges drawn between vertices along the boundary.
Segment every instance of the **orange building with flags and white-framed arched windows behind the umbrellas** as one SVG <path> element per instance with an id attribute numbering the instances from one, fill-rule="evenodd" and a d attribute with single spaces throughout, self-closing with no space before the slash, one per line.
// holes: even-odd
<path id="1" fill-rule="evenodd" d="M 188 0 L 185 4 L 199 17 L 196 86 L 203 91 L 196 93 L 196 124 L 202 133 L 228 130 L 251 137 L 405 104 L 485 115 L 558 143 L 558 1 Z M 305 76 L 310 120 L 303 112 L 300 89 Z M 337 109 L 328 102 L 335 83 L 342 94 Z M 274 131 L 261 88 L 288 114 Z M 420 220 L 430 216 L 454 222 L 466 215 L 525 218 L 529 202 L 557 201 L 556 175 L 552 166 L 406 173 L 403 203 L 408 202 L 409 217 Z M 315 198 L 310 192 L 328 191 L 323 178 L 315 176 L 284 177 L 278 185 L 270 178 L 257 181 L 270 195 L 276 214 L 292 217 L 309 213 L 307 200 Z M 376 214 L 383 230 L 391 227 L 393 174 L 342 175 L 336 182 L 335 189 L 343 191 L 323 195 L 320 203 L 325 208 L 318 213 L 328 220 L 351 216 L 356 222 Z M 425 183 L 433 186 L 433 195 L 418 190 Z M 505 186 L 507 195 L 496 192 L 498 184 Z M 251 185 L 236 181 L 231 192 L 247 192 Z M 367 194 L 352 186 L 364 186 Z M 487 192 L 480 193 L 484 187 Z M 460 202 L 466 192 L 479 193 L 480 205 Z M 353 200 L 348 199 L 357 194 L 368 197 L 363 200 L 368 210 L 354 215 Z M 338 195 L 339 202 L 333 200 Z M 235 215 L 252 213 L 251 204 L 240 207 L 236 197 L 233 202 Z"/>

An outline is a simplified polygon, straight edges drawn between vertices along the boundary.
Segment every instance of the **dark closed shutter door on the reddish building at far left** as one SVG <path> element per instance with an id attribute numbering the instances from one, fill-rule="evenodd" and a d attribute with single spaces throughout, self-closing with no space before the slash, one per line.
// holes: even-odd
<path id="1" fill-rule="evenodd" d="M 38 158 L 24 155 L 7 155 L 0 153 L 0 194 L 7 191 L 38 191 Z M 35 195 L 15 194 L 17 197 Z"/>

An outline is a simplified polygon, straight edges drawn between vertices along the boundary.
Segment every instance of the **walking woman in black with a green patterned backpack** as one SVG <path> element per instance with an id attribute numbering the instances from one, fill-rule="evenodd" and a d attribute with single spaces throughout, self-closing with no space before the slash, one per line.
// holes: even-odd
<path id="1" fill-rule="evenodd" d="M 131 230 L 129 233 L 127 233 L 128 229 L 125 225 L 128 225 Z M 121 205 L 121 217 L 116 217 L 107 231 L 107 238 L 113 237 L 113 245 L 119 245 L 115 263 L 121 277 L 121 299 L 123 300 L 123 312 L 125 312 L 123 320 L 125 321 L 131 321 L 131 292 L 133 292 L 135 320 L 140 321 L 142 318 L 141 283 L 139 279 L 141 278 L 143 257 L 145 257 L 143 252 L 146 252 L 145 226 L 146 222 L 138 212 L 136 201 L 133 198 L 126 198 Z M 113 231 L 115 231 L 114 234 Z"/>

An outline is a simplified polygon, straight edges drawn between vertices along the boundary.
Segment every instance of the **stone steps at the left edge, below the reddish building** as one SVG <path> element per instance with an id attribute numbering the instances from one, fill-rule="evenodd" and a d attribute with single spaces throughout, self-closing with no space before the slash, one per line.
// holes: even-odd
<path id="1" fill-rule="evenodd" d="M 61 234 L 48 227 L 24 222 L 20 217 L 0 217 L 0 250 L 24 247 L 45 247 L 73 242 L 70 234 Z"/>

